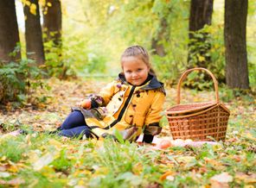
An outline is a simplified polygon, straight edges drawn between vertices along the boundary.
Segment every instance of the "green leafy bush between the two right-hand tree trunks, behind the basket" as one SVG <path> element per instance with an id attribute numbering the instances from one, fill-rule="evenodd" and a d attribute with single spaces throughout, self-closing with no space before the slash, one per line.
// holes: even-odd
<path id="1" fill-rule="evenodd" d="M 206 25 L 193 33 L 189 41 L 189 67 L 202 66 L 214 73 L 220 83 L 225 82 L 225 49 L 222 39 L 223 26 Z"/>

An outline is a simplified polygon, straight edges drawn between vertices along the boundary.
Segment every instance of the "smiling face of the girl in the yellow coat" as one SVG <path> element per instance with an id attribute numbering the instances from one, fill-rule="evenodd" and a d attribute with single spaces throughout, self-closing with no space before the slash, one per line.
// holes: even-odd
<path id="1" fill-rule="evenodd" d="M 125 79 L 131 85 L 142 85 L 148 78 L 150 67 L 138 57 L 125 57 L 122 59 L 123 72 Z"/>

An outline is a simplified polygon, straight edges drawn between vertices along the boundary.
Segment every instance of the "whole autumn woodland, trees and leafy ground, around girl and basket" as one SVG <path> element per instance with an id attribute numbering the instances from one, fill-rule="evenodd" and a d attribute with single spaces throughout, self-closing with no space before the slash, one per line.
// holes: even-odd
<path id="1" fill-rule="evenodd" d="M 117 77 L 135 44 L 166 85 L 164 110 L 182 72 L 214 73 L 230 110 L 225 142 L 158 149 L 48 134 Z M 255 187 L 255 75 L 255 0 L 0 0 L 0 187 Z M 214 97 L 204 72 L 183 83 L 182 102 Z M 166 116 L 160 124 L 171 141 Z M 29 134 L 12 135 L 20 129 Z"/>

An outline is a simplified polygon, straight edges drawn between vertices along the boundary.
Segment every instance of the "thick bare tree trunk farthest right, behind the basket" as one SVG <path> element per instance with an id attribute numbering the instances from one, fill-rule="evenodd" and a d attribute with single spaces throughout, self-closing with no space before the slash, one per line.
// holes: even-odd
<path id="1" fill-rule="evenodd" d="M 225 0 L 226 81 L 231 88 L 249 88 L 246 53 L 247 7 L 248 0 Z"/>

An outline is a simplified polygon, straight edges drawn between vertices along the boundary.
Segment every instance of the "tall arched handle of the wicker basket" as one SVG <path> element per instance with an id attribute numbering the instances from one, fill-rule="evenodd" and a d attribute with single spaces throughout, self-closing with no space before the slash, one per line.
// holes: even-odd
<path id="1" fill-rule="evenodd" d="M 217 79 L 214 77 L 214 74 L 212 72 L 210 72 L 208 69 L 206 68 L 201 68 L 201 67 L 197 67 L 197 68 L 192 68 L 189 69 L 185 72 L 182 73 L 182 76 L 178 82 L 177 85 L 177 104 L 179 104 L 181 102 L 181 85 L 182 85 L 182 81 L 184 80 L 184 78 L 187 78 L 187 76 L 189 75 L 190 72 L 193 71 L 205 71 L 208 72 L 208 74 L 211 76 L 211 78 L 214 80 L 214 90 L 215 90 L 215 98 L 216 98 L 216 102 L 220 103 L 220 98 L 219 98 L 219 93 L 218 93 L 218 82 Z"/>

